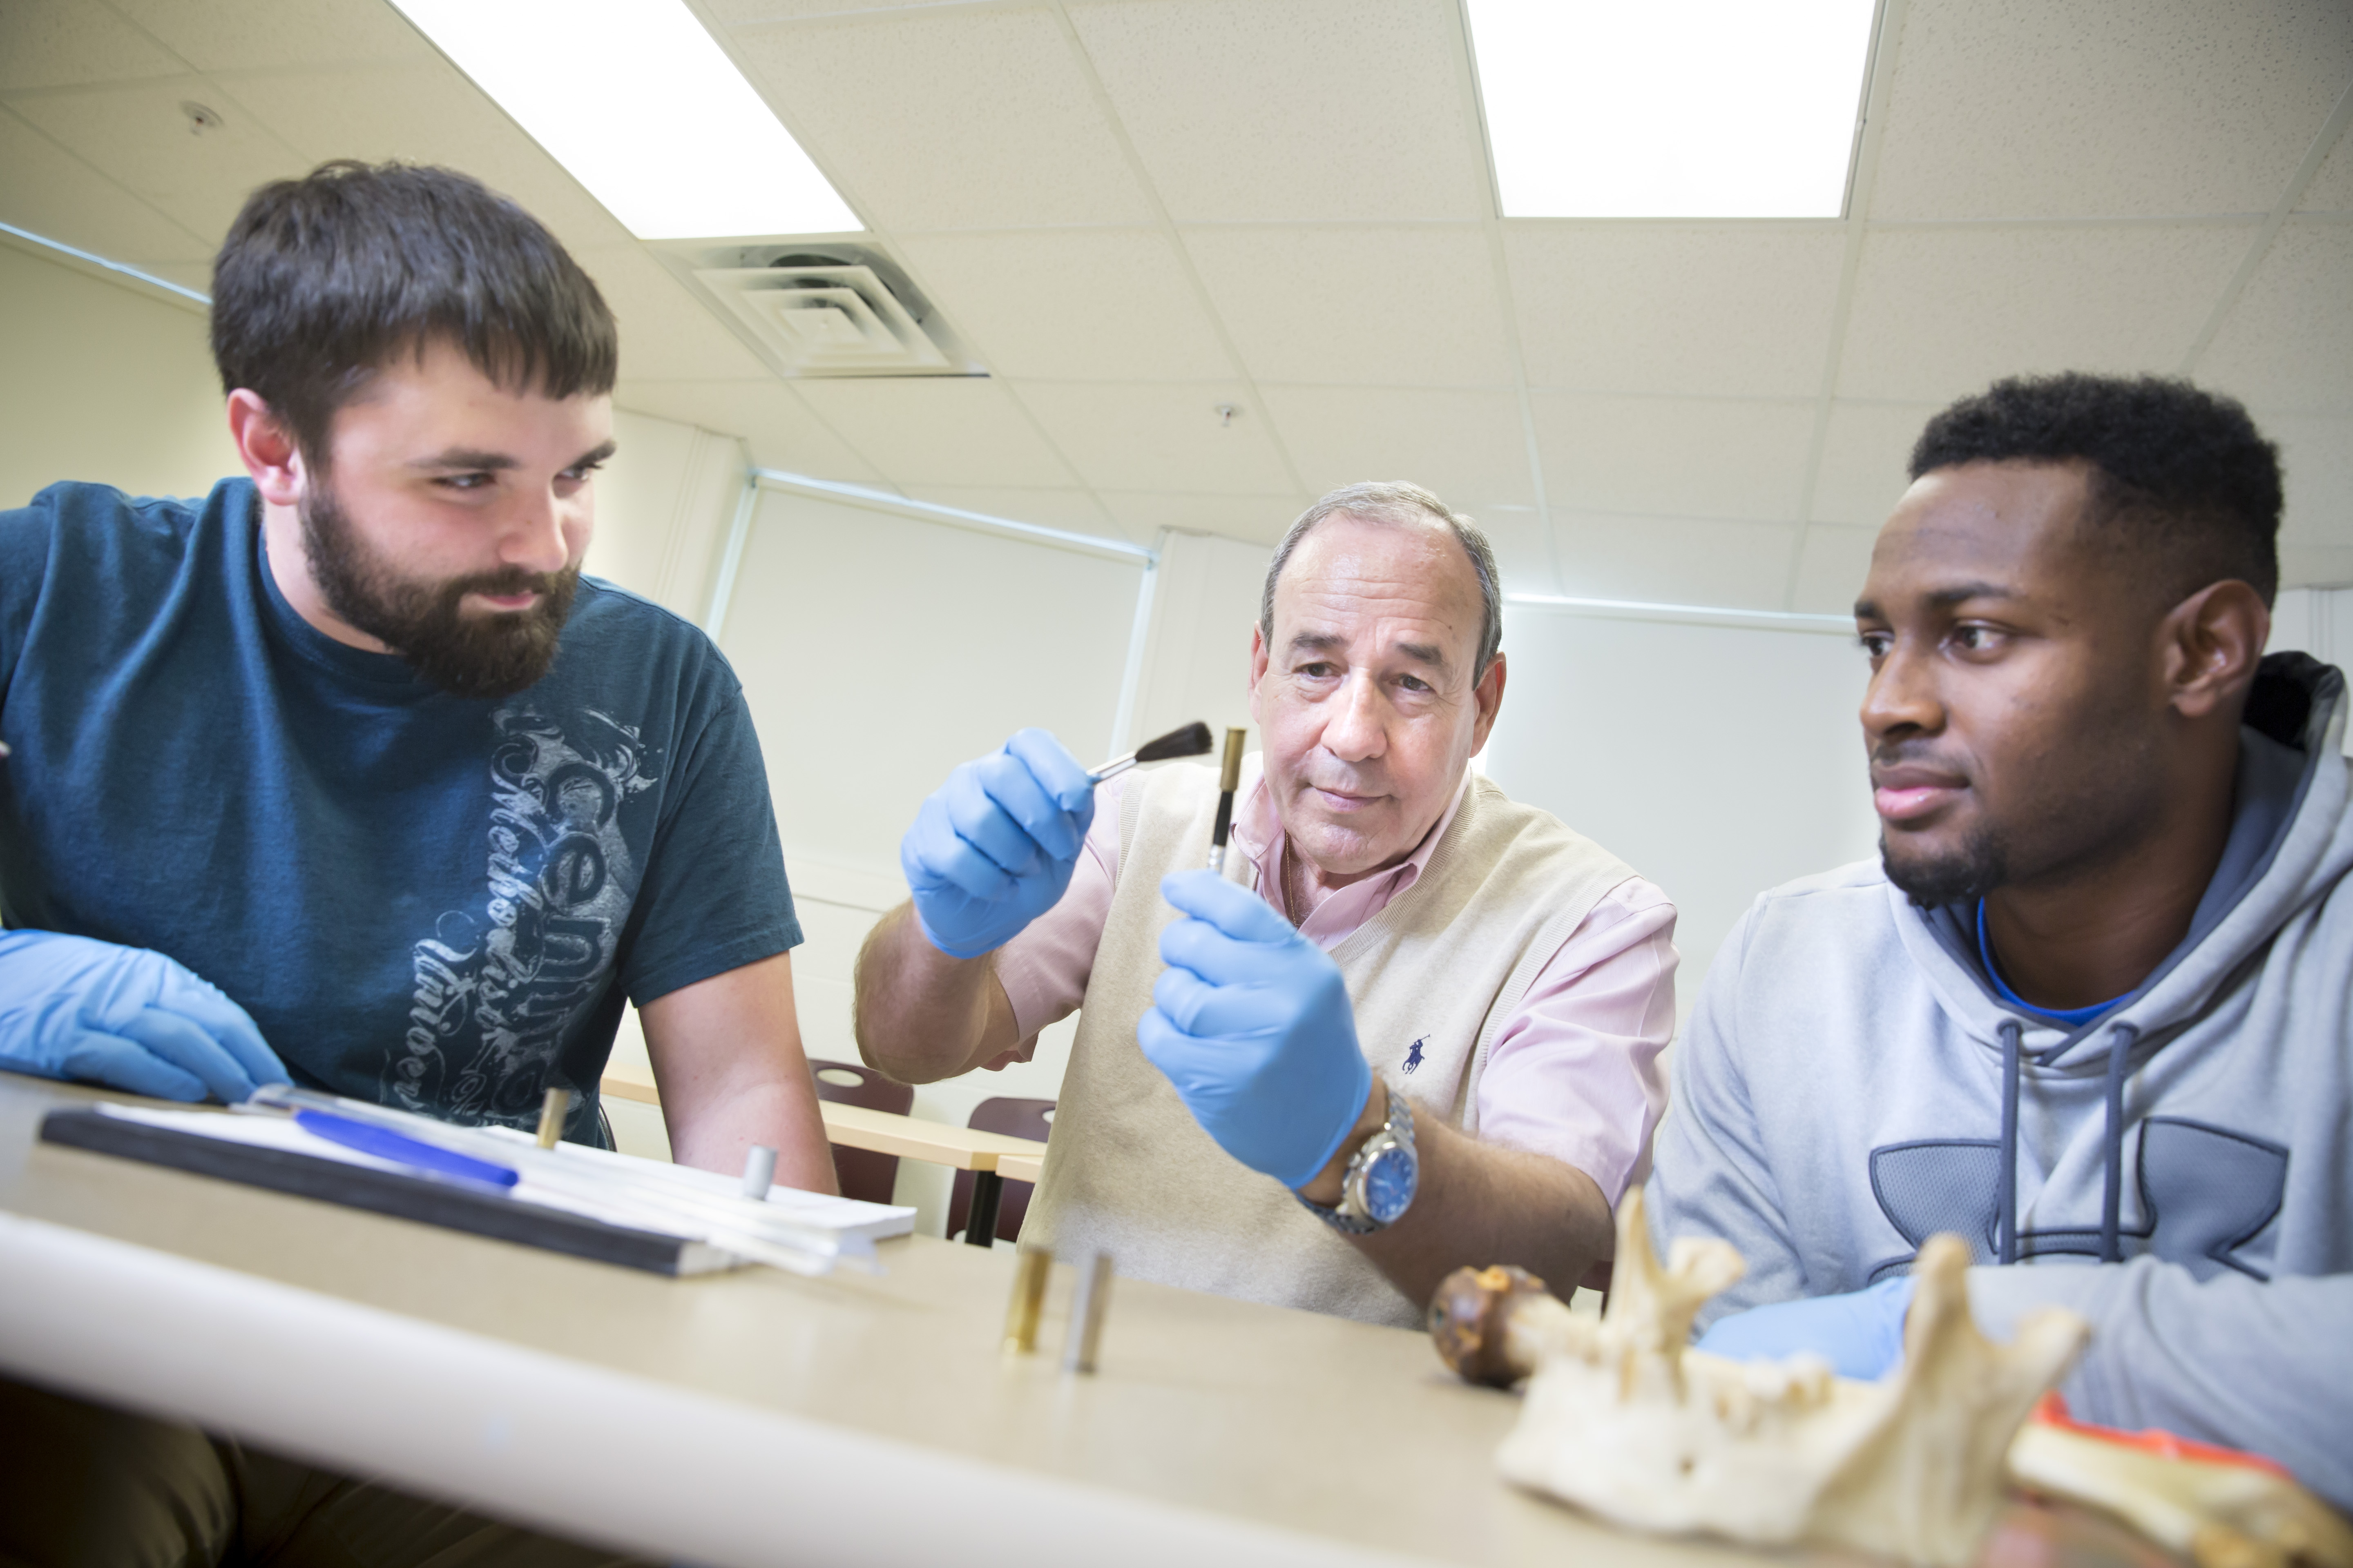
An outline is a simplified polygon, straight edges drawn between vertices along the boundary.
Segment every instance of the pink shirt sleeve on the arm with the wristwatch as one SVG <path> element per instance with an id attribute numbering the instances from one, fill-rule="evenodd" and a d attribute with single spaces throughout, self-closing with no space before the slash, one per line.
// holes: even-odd
<path id="1" fill-rule="evenodd" d="M 1614 1208 L 1649 1166 L 1666 1110 L 1675 961 L 1666 893 L 1640 877 L 1609 889 L 1487 1053 L 1478 1135 L 1577 1166 Z"/>

